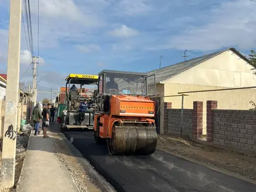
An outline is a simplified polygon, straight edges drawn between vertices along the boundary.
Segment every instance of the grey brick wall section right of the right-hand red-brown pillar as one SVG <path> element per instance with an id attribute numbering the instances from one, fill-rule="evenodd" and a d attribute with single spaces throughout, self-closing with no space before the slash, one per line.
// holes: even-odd
<path id="1" fill-rule="evenodd" d="M 213 110 L 214 143 L 256 151 L 256 113 L 246 110 Z"/>

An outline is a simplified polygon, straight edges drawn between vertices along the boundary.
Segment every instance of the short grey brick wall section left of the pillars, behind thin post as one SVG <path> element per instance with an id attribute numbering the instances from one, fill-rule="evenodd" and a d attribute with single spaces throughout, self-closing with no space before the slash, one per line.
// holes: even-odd
<path id="1" fill-rule="evenodd" d="M 180 134 L 182 109 L 167 109 L 168 133 Z M 193 109 L 183 109 L 183 135 L 193 138 Z"/>

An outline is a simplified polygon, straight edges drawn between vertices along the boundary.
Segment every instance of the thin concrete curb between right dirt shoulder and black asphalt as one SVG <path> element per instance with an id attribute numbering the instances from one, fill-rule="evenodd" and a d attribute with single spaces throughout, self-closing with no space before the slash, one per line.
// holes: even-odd
<path id="1" fill-rule="evenodd" d="M 220 168 L 218 168 L 217 166 L 209 165 L 209 164 L 207 164 L 207 163 L 198 161 L 198 160 L 193 159 L 193 158 L 190 158 L 190 157 L 186 157 L 186 156 L 184 156 L 184 155 L 175 154 L 174 152 L 170 152 L 170 151 L 164 150 L 164 149 L 162 149 L 162 148 L 160 148 L 160 147 L 157 147 L 157 150 L 163 151 L 163 152 L 167 152 L 168 154 L 171 154 L 171 155 L 173 155 L 173 156 L 175 156 L 175 157 L 179 157 L 179 158 L 185 159 L 185 160 L 187 160 L 187 161 L 190 161 L 190 162 L 193 162 L 193 163 L 197 163 L 198 165 L 205 166 L 206 168 L 209 168 L 209 169 L 212 169 L 212 170 L 216 170 L 216 171 L 218 171 L 218 172 L 224 173 L 224 174 L 229 175 L 229 176 L 232 176 L 232 177 L 236 177 L 237 179 L 244 180 L 245 182 L 256 184 L 256 181 L 251 180 L 251 179 L 248 179 L 247 177 L 241 176 L 241 175 L 239 175 L 239 174 L 237 174 L 237 173 L 230 172 L 229 170 L 220 169 Z"/>

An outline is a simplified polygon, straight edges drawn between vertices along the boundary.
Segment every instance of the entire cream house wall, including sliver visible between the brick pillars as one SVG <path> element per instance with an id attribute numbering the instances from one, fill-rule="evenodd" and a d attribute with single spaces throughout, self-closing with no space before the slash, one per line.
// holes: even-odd
<path id="1" fill-rule="evenodd" d="M 178 92 L 211 90 L 221 87 L 256 86 L 252 66 L 233 51 L 226 51 L 208 61 L 192 67 L 164 81 L 165 96 Z M 193 101 L 204 102 L 203 134 L 206 134 L 206 101 L 218 101 L 219 109 L 250 109 L 250 101 L 256 102 L 256 89 L 190 93 L 184 98 L 184 108 L 193 108 Z M 181 108 L 180 97 L 165 97 L 172 108 Z"/>

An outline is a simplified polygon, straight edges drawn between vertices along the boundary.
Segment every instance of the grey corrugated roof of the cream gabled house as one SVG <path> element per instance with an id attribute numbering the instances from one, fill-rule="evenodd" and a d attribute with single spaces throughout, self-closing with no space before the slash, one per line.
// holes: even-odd
<path id="1" fill-rule="evenodd" d="M 169 79 L 170 77 L 176 76 L 177 74 L 182 73 L 185 70 L 190 69 L 191 67 L 197 66 L 198 64 L 200 64 L 204 61 L 207 61 L 208 59 L 211 59 L 214 56 L 222 54 L 223 52 L 228 51 L 228 50 L 232 50 L 239 56 L 243 57 L 243 59 L 246 59 L 246 58 L 244 58 L 243 55 L 239 54 L 236 51 L 236 49 L 229 48 L 229 49 L 225 49 L 222 51 L 214 52 L 212 54 L 199 56 L 197 58 L 190 59 L 188 61 L 176 63 L 174 65 L 162 67 L 161 69 L 151 70 L 150 72 L 148 72 L 148 75 L 155 74 L 155 81 L 156 81 L 156 83 L 159 83 L 161 81 Z"/>

